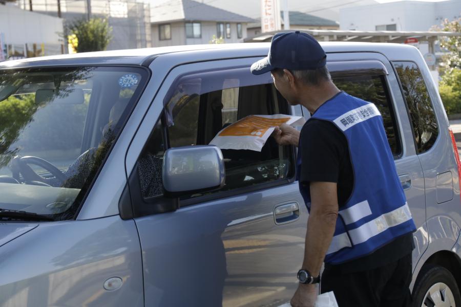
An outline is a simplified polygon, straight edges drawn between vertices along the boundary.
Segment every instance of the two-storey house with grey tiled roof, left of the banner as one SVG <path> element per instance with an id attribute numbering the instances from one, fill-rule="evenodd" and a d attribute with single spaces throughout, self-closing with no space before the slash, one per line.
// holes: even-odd
<path id="1" fill-rule="evenodd" d="M 172 0 L 151 8 L 152 46 L 241 42 L 248 23 L 255 20 L 192 0 Z"/>

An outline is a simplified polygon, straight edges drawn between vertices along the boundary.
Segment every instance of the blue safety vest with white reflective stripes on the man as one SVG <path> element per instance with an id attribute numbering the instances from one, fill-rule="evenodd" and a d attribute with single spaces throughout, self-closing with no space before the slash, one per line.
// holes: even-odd
<path id="1" fill-rule="evenodd" d="M 340 264 L 362 257 L 415 231 L 378 108 L 341 92 L 322 104 L 311 118 L 329 121 L 344 133 L 354 174 L 350 198 L 340 208 L 324 261 Z M 298 180 L 301 163 L 298 152 Z M 309 185 L 300 183 L 299 189 L 310 211 Z"/>

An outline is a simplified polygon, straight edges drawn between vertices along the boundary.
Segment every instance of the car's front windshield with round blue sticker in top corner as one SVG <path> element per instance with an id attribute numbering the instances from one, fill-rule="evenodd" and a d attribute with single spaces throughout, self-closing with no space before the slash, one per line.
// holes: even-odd
<path id="1" fill-rule="evenodd" d="M 74 218 L 147 76 L 131 67 L 0 70 L 0 208 Z"/>

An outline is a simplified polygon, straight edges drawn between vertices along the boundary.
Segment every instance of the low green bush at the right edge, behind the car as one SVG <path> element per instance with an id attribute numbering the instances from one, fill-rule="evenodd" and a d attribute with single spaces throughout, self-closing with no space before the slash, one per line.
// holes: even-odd
<path id="1" fill-rule="evenodd" d="M 453 68 L 451 73 L 443 75 L 438 92 L 447 114 L 461 113 L 461 69 Z"/>

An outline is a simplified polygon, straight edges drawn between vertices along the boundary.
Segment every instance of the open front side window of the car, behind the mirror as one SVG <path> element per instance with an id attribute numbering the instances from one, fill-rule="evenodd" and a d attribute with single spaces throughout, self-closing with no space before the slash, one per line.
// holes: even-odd
<path id="1" fill-rule="evenodd" d="M 249 73 L 248 69 L 245 72 Z M 266 82 L 271 79 L 265 78 Z M 213 83 L 212 85 L 210 85 Z M 192 85 L 193 84 L 193 85 Z M 248 84 L 235 74 L 221 72 L 214 75 L 184 77 L 173 85 L 165 105 L 170 109 L 170 125 L 165 127 L 171 147 L 207 145 L 219 131 L 248 115 L 288 114 L 288 104 L 272 83 Z M 243 86 L 235 86 L 243 85 Z M 246 85 L 246 86 L 245 86 Z M 185 90 L 189 86 L 190 89 Z M 209 91 L 212 90 L 212 91 Z M 174 107 L 169 105 L 174 103 Z M 141 154 L 138 174 L 144 198 L 161 194 L 161 165 L 164 152 L 162 133 L 157 126 Z M 225 186 L 220 191 L 234 190 L 268 182 L 285 180 L 294 176 L 294 157 L 290 146 L 279 146 L 273 138 L 261 152 L 253 150 L 222 149 L 225 164 Z M 145 157 L 150 162 L 145 163 Z M 146 169 L 155 169 L 146 180 Z M 152 186 L 156 185 L 156 186 Z M 202 194 L 194 194 L 195 197 Z"/>

